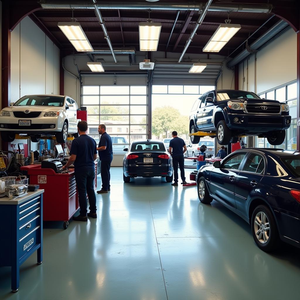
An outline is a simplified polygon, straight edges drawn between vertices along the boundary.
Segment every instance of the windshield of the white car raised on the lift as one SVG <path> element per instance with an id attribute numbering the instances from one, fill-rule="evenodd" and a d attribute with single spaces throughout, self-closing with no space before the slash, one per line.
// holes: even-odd
<path id="1" fill-rule="evenodd" d="M 41 105 L 41 106 L 64 106 L 64 97 L 57 96 L 24 96 L 19 99 L 13 106 L 22 105 Z"/>

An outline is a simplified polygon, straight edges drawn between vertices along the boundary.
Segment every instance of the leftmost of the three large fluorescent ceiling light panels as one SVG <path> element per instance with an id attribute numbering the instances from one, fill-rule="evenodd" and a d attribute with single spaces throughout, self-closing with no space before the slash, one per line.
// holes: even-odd
<path id="1" fill-rule="evenodd" d="M 58 22 L 58 27 L 77 51 L 94 51 L 79 22 Z"/>

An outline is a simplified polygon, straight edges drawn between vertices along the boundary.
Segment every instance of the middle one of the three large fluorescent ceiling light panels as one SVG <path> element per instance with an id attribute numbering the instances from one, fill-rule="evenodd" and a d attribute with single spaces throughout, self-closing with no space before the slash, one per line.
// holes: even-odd
<path id="1" fill-rule="evenodd" d="M 157 51 L 161 23 L 139 23 L 140 51 Z"/>

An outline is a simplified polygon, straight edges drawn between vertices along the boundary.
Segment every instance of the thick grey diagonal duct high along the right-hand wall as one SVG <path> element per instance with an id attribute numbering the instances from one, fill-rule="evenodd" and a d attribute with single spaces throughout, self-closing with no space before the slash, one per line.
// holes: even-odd
<path id="1" fill-rule="evenodd" d="M 261 37 L 259 37 L 256 41 L 254 41 L 249 47 L 253 50 L 258 50 L 260 47 L 262 47 L 265 43 L 270 41 L 272 38 L 274 38 L 276 35 L 280 34 L 283 30 L 289 28 L 289 24 L 286 23 L 283 20 L 280 20 L 276 24 L 274 24 L 267 32 L 265 32 Z M 227 67 L 232 68 L 236 64 L 243 61 L 245 58 L 247 58 L 251 53 L 247 51 L 247 49 L 244 49 L 241 53 L 239 53 L 237 56 L 232 58 L 231 61 L 227 63 Z"/>

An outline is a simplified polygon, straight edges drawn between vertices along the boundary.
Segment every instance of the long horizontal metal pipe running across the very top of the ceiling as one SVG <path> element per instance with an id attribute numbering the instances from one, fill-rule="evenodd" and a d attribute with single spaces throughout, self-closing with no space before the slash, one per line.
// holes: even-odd
<path id="1" fill-rule="evenodd" d="M 67 1 L 47 1 L 39 2 L 42 8 L 48 9 L 94 9 L 94 5 L 88 2 L 67 2 Z M 151 10 L 202 10 L 205 3 L 170 3 L 170 2 L 129 2 L 129 1 L 101 1 L 97 4 L 98 9 L 151 9 Z M 229 4 L 224 5 L 213 3 L 210 11 L 239 11 L 245 13 L 270 13 L 273 6 L 271 4 Z"/>

